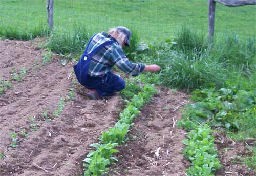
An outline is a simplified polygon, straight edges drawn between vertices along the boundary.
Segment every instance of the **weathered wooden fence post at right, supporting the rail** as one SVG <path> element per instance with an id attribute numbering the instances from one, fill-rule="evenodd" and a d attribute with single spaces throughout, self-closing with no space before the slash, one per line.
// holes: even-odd
<path id="1" fill-rule="evenodd" d="M 212 40 L 214 38 L 214 21 L 215 21 L 215 7 L 216 2 L 214 0 L 208 0 L 208 30 L 209 30 L 209 36 L 208 40 L 209 43 L 212 43 Z"/>

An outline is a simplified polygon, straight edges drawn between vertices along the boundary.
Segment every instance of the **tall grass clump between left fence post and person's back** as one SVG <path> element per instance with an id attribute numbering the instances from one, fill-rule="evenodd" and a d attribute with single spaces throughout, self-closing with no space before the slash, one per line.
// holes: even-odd
<path id="1" fill-rule="evenodd" d="M 53 31 L 46 42 L 46 47 L 57 54 L 81 53 L 91 37 L 91 32 L 84 26 L 77 26 L 71 31 Z"/>

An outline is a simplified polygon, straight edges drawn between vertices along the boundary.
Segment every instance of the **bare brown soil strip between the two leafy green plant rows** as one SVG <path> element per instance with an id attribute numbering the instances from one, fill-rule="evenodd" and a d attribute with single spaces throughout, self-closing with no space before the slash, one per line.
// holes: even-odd
<path id="1" fill-rule="evenodd" d="M 113 166 L 112 174 L 184 175 L 189 166 L 181 154 L 186 132 L 176 127 L 177 120 L 181 118 L 180 108 L 176 107 L 187 102 L 188 96 L 185 93 L 160 90 L 134 121 L 127 146 L 118 148 L 121 157 Z M 155 151 L 159 147 L 159 157 L 156 157 Z"/>

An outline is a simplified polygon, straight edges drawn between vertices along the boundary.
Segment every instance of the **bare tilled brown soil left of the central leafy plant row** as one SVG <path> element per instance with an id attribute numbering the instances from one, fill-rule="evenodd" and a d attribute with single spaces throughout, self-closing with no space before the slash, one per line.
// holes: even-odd
<path id="1" fill-rule="evenodd" d="M 61 98 L 68 97 L 74 78 L 71 75 L 68 79 L 72 64 L 62 66 L 57 58 L 46 66 L 35 64 L 35 58 L 42 60 L 42 51 L 30 42 L 6 40 L 0 41 L 0 46 L 0 77 L 10 79 L 13 66 L 30 67 L 23 81 L 12 81 L 13 88 L 0 97 L 0 151 L 5 151 L 0 175 L 81 175 L 89 145 L 98 141 L 101 131 L 115 124 L 122 100 L 118 95 L 108 101 L 89 100 L 82 93 L 86 89 L 79 87 L 58 118 L 46 123 L 42 112 L 52 114 Z M 29 127 L 29 116 L 40 124 L 37 131 Z M 19 146 L 10 147 L 9 134 L 22 128 L 29 132 L 28 139 L 18 135 Z M 55 167 L 44 171 L 36 165 Z"/>

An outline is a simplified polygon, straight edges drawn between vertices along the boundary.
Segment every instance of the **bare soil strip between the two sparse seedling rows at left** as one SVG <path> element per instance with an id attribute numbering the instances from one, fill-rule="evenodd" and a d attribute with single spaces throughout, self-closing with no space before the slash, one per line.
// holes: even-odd
<path id="1" fill-rule="evenodd" d="M 57 62 L 50 63 L 44 69 L 29 74 L 24 82 L 16 83 L 0 98 L 4 100 L 2 102 L 8 102 L 0 107 L 0 132 L 3 134 L 0 149 L 8 146 L 11 132 L 29 126 L 29 116 L 40 116 L 45 109 L 57 109 L 61 97 L 67 95 L 71 86 L 71 81 L 67 80 L 68 70 L 71 70 L 70 65 L 63 67 Z"/>

